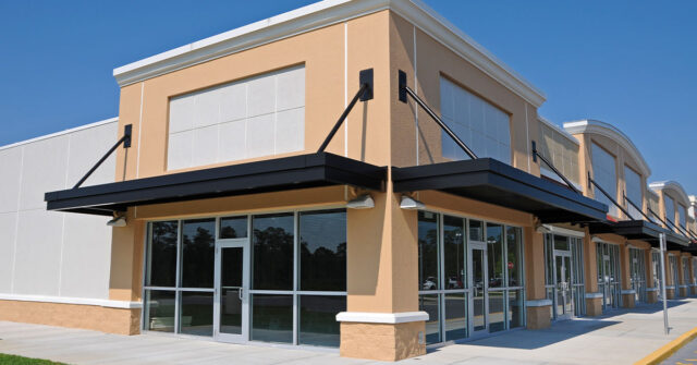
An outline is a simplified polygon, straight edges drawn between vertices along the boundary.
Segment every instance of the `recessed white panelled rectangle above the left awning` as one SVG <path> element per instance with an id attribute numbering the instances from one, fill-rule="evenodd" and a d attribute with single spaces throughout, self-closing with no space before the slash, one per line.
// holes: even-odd
<path id="1" fill-rule="evenodd" d="M 173 97 L 169 170 L 305 148 L 305 66 Z"/>

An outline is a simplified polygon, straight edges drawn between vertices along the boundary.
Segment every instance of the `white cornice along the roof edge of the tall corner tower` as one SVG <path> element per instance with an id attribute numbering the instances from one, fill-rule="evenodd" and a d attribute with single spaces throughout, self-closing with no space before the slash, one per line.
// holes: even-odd
<path id="1" fill-rule="evenodd" d="M 420 0 L 323 0 L 129 63 L 113 76 L 123 87 L 382 10 L 409 21 L 533 106 L 545 102 L 541 90 Z"/>

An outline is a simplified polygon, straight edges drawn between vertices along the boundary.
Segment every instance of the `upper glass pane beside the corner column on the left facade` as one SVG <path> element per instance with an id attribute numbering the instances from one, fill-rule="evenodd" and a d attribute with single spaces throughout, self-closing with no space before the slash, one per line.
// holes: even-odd
<path id="1" fill-rule="evenodd" d="M 299 215 L 301 290 L 346 290 L 346 211 Z"/>

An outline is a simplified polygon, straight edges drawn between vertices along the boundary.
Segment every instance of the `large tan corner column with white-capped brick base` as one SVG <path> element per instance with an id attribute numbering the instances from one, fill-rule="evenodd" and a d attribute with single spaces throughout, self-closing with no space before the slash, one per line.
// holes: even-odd
<path id="1" fill-rule="evenodd" d="M 398 361 L 426 353 L 418 312 L 417 212 L 399 196 L 371 193 L 375 208 L 347 211 L 347 311 L 341 321 L 342 356 Z"/>

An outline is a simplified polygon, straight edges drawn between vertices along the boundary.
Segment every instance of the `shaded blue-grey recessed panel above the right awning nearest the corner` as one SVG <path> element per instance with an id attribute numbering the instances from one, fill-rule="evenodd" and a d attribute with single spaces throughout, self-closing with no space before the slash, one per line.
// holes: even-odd
<path id="1" fill-rule="evenodd" d="M 443 121 L 477 156 L 511 163 L 511 118 L 506 112 L 442 76 L 440 100 Z M 441 133 L 441 148 L 444 158 L 468 159 L 445 132 Z"/>

